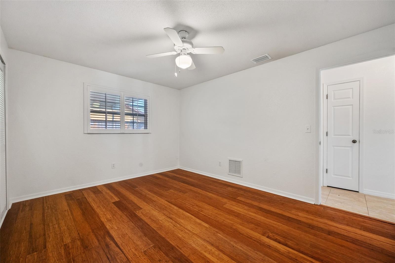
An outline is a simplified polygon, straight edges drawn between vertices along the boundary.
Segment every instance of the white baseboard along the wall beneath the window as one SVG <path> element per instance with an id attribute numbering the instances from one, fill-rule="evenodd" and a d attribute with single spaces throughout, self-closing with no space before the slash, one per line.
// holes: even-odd
<path id="1" fill-rule="evenodd" d="M 12 197 L 12 198 L 10 198 L 10 206 L 9 207 L 11 207 L 12 203 L 17 203 L 17 202 L 20 202 L 20 201 L 25 201 L 25 200 L 34 199 L 34 198 L 38 198 L 38 197 L 43 197 L 43 196 L 47 196 L 47 195 L 54 195 L 56 193 L 69 192 L 69 191 L 83 189 L 83 188 L 88 188 L 88 187 L 92 187 L 92 186 L 98 186 L 100 184 L 108 184 L 108 183 L 111 183 L 111 182 L 118 182 L 118 181 L 122 181 L 122 180 L 126 180 L 126 179 L 142 177 L 142 176 L 145 176 L 145 175 L 152 175 L 154 173 L 162 173 L 162 172 L 171 171 L 171 170 L 174 170 L 174 169 L 178 169 L 178 167 L 170 167 L 170 168 L 160 169 L 160 170 L 156 170 L 156 171 L 149 171 L 149 172 L 145 172 L 145 173 L 138 173 L 138 174 L 135 174 L 135 175 L 127 175 L 127 176 L 124 176 L 124 177 L 111 178 L 111 179 L 97 181 L 97 182 L 92 182 L 92 183 L 87 183 L 87 184 L 79 184 L 79 185 L 76 185 L 76 186 L 70 186 L 70 187 L 59 188 L 59 189 L 55 189 L 55 190 L 49 190 L 49 191 L 40 192 L 40 193 L 32 193 L 30 195 L 21 195 L 21 196 L 18 196 L 18 197 Z"/>

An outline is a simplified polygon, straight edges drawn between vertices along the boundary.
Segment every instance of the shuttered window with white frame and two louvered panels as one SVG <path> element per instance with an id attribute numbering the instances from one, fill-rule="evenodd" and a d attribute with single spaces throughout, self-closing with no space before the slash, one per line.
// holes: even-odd
<path id="1" fill-rule="evenodd" d="M 85 133 L 149 133 L 149 96 L 84 85 Z"/>

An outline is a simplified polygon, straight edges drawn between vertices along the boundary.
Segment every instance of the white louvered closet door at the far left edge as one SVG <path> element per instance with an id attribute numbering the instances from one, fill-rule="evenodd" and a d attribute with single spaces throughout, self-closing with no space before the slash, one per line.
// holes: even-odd
<path id="1" fill-rule="evenodd" d="M 0 62 L 0 212 L 6 210 L 6 123 L 5 123 L 5 92 L 4 65 Z"/>

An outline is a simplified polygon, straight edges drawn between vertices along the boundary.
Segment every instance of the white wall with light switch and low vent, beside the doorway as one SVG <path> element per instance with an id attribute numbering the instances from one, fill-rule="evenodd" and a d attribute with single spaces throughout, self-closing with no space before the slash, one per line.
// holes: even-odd
<path id="1" fill-rule="evenodd" d="M 180 166 L 317 200 L 318 72 L 394 53 L 394 29 L 392 24 L 182 89 Z M 243 178 L 227 175 L 228 157 L 243 159 Z"/>

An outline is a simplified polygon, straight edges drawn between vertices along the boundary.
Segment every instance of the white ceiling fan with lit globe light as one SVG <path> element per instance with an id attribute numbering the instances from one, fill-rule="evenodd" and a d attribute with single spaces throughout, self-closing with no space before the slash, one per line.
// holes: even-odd
<path id="1" fill-rule="evenodd" d="M 188 70 L 194 70 L 195 64 L 192 61 L 192 58 L 188 53 L 192 54 L 222 54 L 224 53 L 223 47 L 194 47 L 194 43 L 190 41 L 188 38 L 188 32 L 185 30 L 181 30 L 177 33 L 173 28 L 164 28 L 167 36 L 174 43 L 174 50 L 165 53 L 151 54 L 147 55 L 148 58 L 157 58 L 160 56 L 169 56 L 180 54 L 175 58 L 175 64 L 179 68 L 188 68 Z"/>

